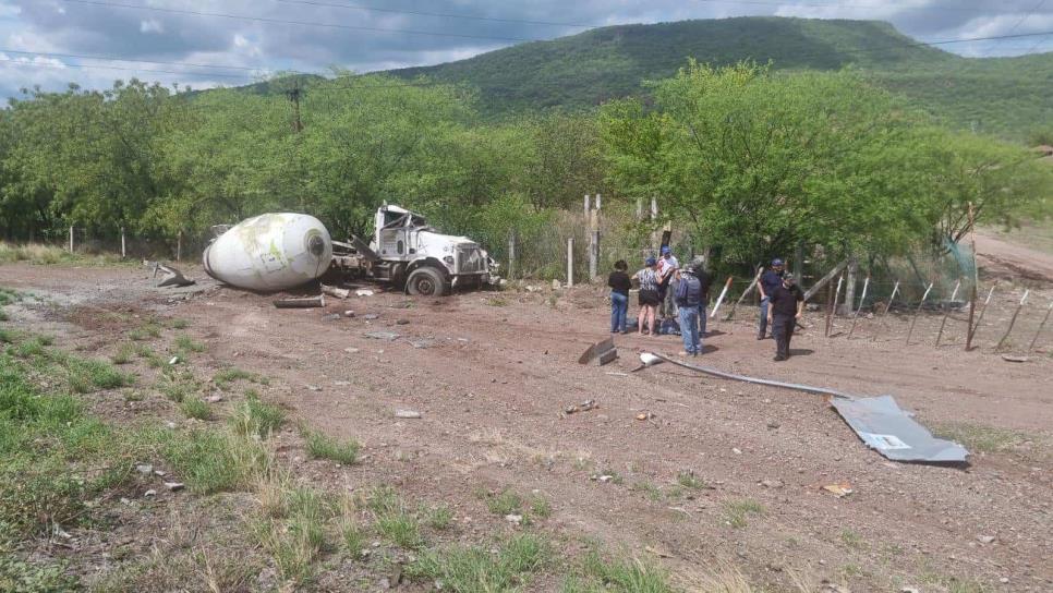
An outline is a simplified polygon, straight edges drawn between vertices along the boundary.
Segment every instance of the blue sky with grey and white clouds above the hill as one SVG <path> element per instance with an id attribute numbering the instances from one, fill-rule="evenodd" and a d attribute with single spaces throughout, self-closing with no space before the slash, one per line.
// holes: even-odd
<path id="1" fill-rule="evenodd" d="M 927 43 L 1053 32 L 1053 0 L 0 0 L 0 97 L 132 76 L 207 88 L 370 72 L 596 26 L 747 15 L 881 20 Z M 1016 56 L 1053 51 L 1053 34 L 940 47 Z"/>

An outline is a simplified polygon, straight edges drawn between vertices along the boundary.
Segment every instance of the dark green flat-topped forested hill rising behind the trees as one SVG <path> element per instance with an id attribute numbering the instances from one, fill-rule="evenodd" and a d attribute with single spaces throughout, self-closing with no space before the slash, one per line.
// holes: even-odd
<path id="1" fill-rule="evenodd" d="M 501 114 L 642 94 L 642 81 L 673 75 L 689 57 L 711 64 L 771 61 L 792 70 L 856 66 L 953 126 L 1013 138 L 1053 120 L 1053 53 L 961 58 L 875 21 L 737 17 L 619 25 L 390 73 L 476 86 L 484 109 Z"/>

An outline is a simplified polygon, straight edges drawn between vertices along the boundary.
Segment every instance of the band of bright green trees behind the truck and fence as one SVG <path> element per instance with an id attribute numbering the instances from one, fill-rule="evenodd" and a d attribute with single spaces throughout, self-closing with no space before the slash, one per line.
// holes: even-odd
<path id="1" fill-rule="evenodd" d="M 602 192 L 627 209 L 656 196 L 700 249 L 746 262 L 799 243 L 942 249 L 969 203 L 1004 225 L 1051 207 L 1053 168 L 1033 154 L 940 128 L 850 71 L 690 62 L 646 102 L 500 122 L 469 87 L 419 83 L 340 74 L 295 102 L 280 78 L 271 94 L 134 80 L 26 93 L 0 112 L 0 235 L 75 225 L 165 242 L 294 210 L 342 238 L 368 233 L 389 202 L 495 246 Z"/>

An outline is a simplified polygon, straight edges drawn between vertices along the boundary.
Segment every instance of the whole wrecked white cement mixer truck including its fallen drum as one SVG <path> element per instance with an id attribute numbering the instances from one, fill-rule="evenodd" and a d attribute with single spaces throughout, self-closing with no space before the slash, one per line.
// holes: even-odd
<path id="1" fill-rule="evenodd" d="M 330 269 L 425 296 L 500 281 L 497 263 L 477 243 L 441 234 L 419 214 L 384 205 L 374 222 L 368 244 L 358 237 L 334 241 L 317 218 L 304 214 L 264 214 L 215 227 L 217 238 L 203 255 L 205 271 L 256 291 L 293 288 Z"/>

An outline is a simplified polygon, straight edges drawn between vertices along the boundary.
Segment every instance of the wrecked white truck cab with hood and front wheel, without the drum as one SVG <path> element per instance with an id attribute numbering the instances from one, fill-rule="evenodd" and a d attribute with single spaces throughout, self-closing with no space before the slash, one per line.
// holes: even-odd
<path id="1" fill-rule="evenodd" d="M 374 229 L 373 275 L 404 283 L 410 294 L 441 295 L 463 285 L 499 281 L 497 263 L 479 243 L 441 234 L 419 214 L 386 204 L 376 211 Z"/>

